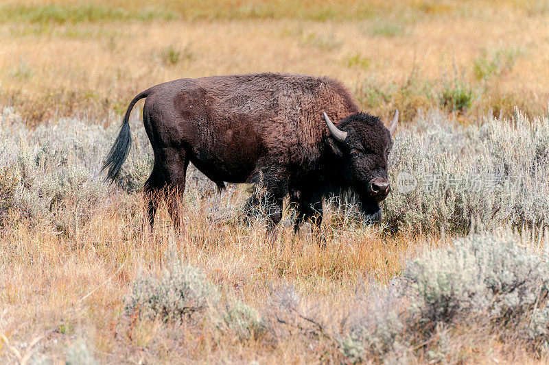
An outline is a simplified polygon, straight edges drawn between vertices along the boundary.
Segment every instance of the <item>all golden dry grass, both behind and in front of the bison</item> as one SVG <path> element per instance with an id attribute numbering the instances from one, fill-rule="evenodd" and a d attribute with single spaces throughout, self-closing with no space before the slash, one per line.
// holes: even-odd
<path id="1" fill-rule="evenodd" d="M 171 0 L 143 6 L 134 0 L 8 0 L 0 5 L 0 104 L 13 107 L 30 127 L 62 116 L 119 123 L 132 97 L 154 84 L 257 71 L 336 77 L 365 111 L 386 118 L 399 108 L 404 124 L 413 123 L 418 109 L 431 108 L 464 125 L 488 114 L 512 115 L 515 106 L 528 116 L 546 114 L 549 4 Z M 233 188 L 219 199 L 238 203 L 243 194 L 244 188 Z M 174 234 L 163 210 L 150 242 L 141 231 L 141 196 L 109 199 L 120 203 L 99 210 L 68 235 L 42 221 L 19 219 L 16 212 L 0 228 L 0 363 L 29 364 L 47 354 L 52 364 L 63 364 L 65 349 L 82 338 L 105 364 L 338 362 L 337 351 L 321 340 L 314 348 L 298 336 L 242 342 L 210 327 L 128 318 L 122 313 L 124 296 L 139 273 L 158 273 L 167 253 L 174 253 L 202 269 L 224 295 L 249 305 L 261 307 L 269 286 L 290 283 L 314 303 L 320 318 L 340 318 L 353 310 L 347 299 L 357 286 L 371 280 L 388 284 L 410 257 L 451 239 L 335 227 L 330 244 L 320 249 L 307 233 L 290 244 L 285 229 L 270 247 L 259 225 L 216 225 L 205 214 L 210 198 L 202 197 L 185 207 L 190 223 L 183 236 Z M 482 328 L 462 333 L 454 346 L 465 362 L 547 360 Z"/>

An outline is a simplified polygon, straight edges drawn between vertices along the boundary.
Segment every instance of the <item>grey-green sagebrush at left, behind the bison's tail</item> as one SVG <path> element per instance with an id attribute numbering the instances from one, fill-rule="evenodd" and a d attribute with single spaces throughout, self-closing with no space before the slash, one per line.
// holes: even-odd
<path id="1" fill-rule="evenodd" d="M 100 175 L 116 128 L 66 118 L 30 131 L 4 108 L 0 113 L 0 171 L 16 179 L 9 180 L 9 192 L 5 186 L 0 202 L 18 213 L 14 216 L 33 225 L 46 223 L 71 236 L 110 204 L 111 194 L 119 194 L 119 202 L 132 201 Z M 144 131 L 137 129 L 135 137 L 128 163 L 116 181 L 128 192 L 142 188 L 152 165 Z M 8 184 L 7 179 L 1 180 L 0 184 Z M 8 210 L 1 212 L 4 218 L 0 219 L 5 220 Z"/>

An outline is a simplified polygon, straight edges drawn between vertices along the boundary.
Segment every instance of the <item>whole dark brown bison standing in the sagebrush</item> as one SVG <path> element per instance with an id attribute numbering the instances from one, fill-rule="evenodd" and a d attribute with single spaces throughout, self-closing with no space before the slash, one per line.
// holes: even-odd
<path id="1" fill-rule="evenodd" d="M 285 197 L 296 203 L 295 229 L 320 226 L 323 198 L 352 191 L 371 222 L 387 197 L 388 153 L 398 110 L 389 127 L 363 113 L 340 81 L 282 73 L 178 79 L 140 92 L 128 106 L 103 170 L 115 179 L 131 146 L 130 112 L 145 99 L 143 124 L 154 151 L 145 182 L 148 221 L 164 197 L 174 225 L 189 162 L 224 188 L 257 184 L 246 206 L 267 203 L 271 226 Z M 334 124 L 332 121 L 336 122 Z M 260 192 L 264 195 L 260 196 Z M 264 197 L 264 199 L 262 198 Z"/>

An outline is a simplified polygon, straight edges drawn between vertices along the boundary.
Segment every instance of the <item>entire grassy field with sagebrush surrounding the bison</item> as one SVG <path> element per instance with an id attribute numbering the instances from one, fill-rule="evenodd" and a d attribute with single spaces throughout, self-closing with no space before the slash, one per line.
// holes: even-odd
<path id="1" fill-rule="evenodd" d="M 0 362 L 546 363 L 548 21 L 534 0 L 4 2 Z M 120 113 L 255 71 L 401 110 L 382 225 L 327 202 L 320 249 L 287 208 L 269 246 L 249 190 L 193 169 L 185 233 L 163 209 L 151 242 L 138 112 L 121 177 L 100 175 Z"/>

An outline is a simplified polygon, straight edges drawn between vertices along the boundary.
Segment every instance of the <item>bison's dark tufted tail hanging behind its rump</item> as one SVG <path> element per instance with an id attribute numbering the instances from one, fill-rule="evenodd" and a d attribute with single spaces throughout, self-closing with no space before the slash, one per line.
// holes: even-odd
<path id="1" fill-rule="evenodd" d="M 110 147 L 110 151 L 108 152 L 105 163 L 101 168 L 101 172 L 105 171 L 108 168 L 105 180 L 110 179 L 111 182 L 114 181 L 114 179 L 116 179 L 116 177 L 120 173 L 120 168 L 122 167 L 122 164 L 124 164 L 124 161 L 126 161 L 126 158 L 128 158 L 130 148 L 132 147 L 132 134 L 130 132 L 130 113 L 132 112 L 132 108 L 135 103 L 137 103 L 139 99 L 143 99 L 148 95 L 149 90 L 140 92 L 135 98 L 133 98 L 133 100 L 130 102 L 130 105 L 128 105 L 128 110 L 126 110 L 126 114 L 124 115 L 124 120 L 122 121 L 122 126 L 120 128 L 120 133 L 118 134 L 118 137 L 116 138 L 113 147 Z"/>

